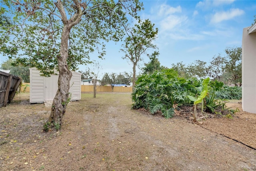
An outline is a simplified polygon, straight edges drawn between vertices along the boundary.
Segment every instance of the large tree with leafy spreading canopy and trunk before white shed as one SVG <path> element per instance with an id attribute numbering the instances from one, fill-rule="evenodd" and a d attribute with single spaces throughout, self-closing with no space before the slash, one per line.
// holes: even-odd
<path id="1" fill-rule="evenodd" d="M 12 16 L 15 24 L 0 26 L 0 50 L 6 45 L 22 50 L 16 61 L 38 68 L 44 76 L 59 71 L 58 91 L 47 123 L 62 124 L 70 70 L 86 64 L 94 50 L 102 57 L 104 42 L 120 40 L 127 16 L 138 19 L 136 12 L 141 9 L 138 0 L 2 1 L 0 13 Z"/>

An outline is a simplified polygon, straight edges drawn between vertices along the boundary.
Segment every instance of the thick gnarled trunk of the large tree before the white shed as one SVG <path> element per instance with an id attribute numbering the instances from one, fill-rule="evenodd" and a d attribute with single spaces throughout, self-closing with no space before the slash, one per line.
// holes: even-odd
<path id="1" fill-rule="evenodd" d="M 68 69 L 67 58 L 68 58 L 68 36 L 70 34 L 70 28 L 64 25 L 61 44 L 60 44 L 60 54 L 58 57 L 58 68 L 59 68 L 59 78 L 58 78 L 58 90 L 52 102 L 52 110 L 50 117 L 47 120 L 47 124 L 50 128 L 55 127 L 55 129 L 60 129 L 62 125 L 62 118 L 66 112 L 66 106 L 69 97 L 69 84 L 72 77 L 72 72 Z"/>

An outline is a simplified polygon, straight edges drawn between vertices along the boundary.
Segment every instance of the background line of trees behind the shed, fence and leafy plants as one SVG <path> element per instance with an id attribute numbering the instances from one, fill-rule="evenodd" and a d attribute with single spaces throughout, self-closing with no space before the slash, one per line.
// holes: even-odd
<path id="1" fill-rule="evenodd" d="M 196 77 L 199 79 L 211 78 L 212 80 L 217 80 L 223 82 L 225 85 L 237 84 L 242 85 L 242 48 L 241 47 L 227 47 L 225 49 L 226 55 L 212 57 L 210 62 L 204 62 L 201 60 L 195 60 L 190 64 L 184 64 L 183 62 L 178 62 L 177 64 L 172 64 L 170 68 L 173 68 L 180 77 L 191 78 Z M 136 78 L 141 74 L 152 74 L 154 71 L 161 71 L 167 69 L 167 67 L 162 66 L 158 60 L 159 52 L 154 52 L 148 55 L 150 61 L 144 64 L 141 68 L 141 73 L 136 75 Z M 1 65 L 2 70 L 10 70 L 10 74 L 18 75 L 22 78 L 24 82 L 29 82 L 29 69 L 28 67 L 22 66 L 21 64 L 14 66 L 14 60 L 9 59 L 3 62 Z M 101 66 L 98 62 L 93 63 L 92 68 L 88 68 L 86 71 L 78 71 L 81 75 L 81 80 L 92 78 L 98 80 L 98 75 Z M 135 78 L 135 80 L 136 80 Z M 101 80 L 101 85 L 106 84 L 126 84 L 130 85 L 133 80 L 133 74 L 124 73 L 105 73 Z"/>

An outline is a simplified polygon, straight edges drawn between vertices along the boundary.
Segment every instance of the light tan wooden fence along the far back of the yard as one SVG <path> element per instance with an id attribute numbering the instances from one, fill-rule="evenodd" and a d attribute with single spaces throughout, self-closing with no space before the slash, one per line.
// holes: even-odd
<path id="1" fill-rule="evenodd" d="M 30 83 L 23 83 L 21 92 L 30 92 Z M 112 92 L 111 86 L 97 86 L 98 92 Z M 93 92 L 93 85 L 81 85 L 81 92 Z M 114 87 L 113 92 L 132 92 L 132 87 Z"/>

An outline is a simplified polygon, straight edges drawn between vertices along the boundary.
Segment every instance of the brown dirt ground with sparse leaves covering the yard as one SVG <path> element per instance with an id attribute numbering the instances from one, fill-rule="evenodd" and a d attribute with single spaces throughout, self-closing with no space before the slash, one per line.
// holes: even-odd
<path id="1" fill-rule="evenodd" d="M 240 101 L 227 104 L 234 119 L 196 125 L 132 110 L 129 93 L 83 93 L 62 129 L 44 132 L 50 107 L 28 99 L 0 108 L 0 171 L 256 171 L 256 114 Z"/>

